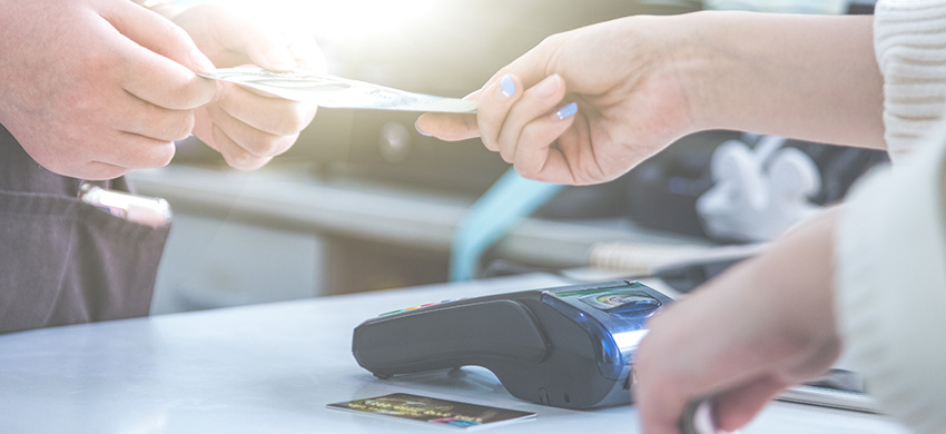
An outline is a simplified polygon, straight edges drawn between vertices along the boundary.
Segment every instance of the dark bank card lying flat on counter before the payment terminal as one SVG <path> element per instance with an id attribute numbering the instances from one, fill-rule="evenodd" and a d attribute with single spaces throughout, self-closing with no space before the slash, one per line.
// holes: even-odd
<path id="1" fill-rule="evenodd" d="M 407 393 L 328 404 L 328 408 L 455 428 L 482 428 L 526 421 L 535 413 L 441 400 Z"/>

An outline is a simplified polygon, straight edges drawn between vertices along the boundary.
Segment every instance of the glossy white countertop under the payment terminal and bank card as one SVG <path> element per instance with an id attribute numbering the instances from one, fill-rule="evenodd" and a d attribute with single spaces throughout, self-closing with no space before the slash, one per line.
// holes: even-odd
<path id="1" fill-rule="evenodd" d="M 450 433 L 332 411 L 414 393 L 534 412 L 490 433 L 637 433 L 632 406 L 569 411 L 464 368 L 382 381 L 352 357 L 352 329 L 382 312 L 566 284 L 548 275 L 154 316 L 0 336 L 0 433 Z M 905 433 L 886 417 L 773 403 L 743 433 Z"/>

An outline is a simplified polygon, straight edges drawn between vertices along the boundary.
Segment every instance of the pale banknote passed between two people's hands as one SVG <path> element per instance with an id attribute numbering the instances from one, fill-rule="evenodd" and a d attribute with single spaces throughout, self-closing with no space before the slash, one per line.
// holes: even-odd
<path id="1" fill-rule="evenodd" d="M 476 101 L 393 89 L 327 73 L 272 72 L 262 68 L 221 68 L 215 80 L 230 81 L 277 97 L 314 102 L 321 107 L 402 111 L 475 114 Z"/>

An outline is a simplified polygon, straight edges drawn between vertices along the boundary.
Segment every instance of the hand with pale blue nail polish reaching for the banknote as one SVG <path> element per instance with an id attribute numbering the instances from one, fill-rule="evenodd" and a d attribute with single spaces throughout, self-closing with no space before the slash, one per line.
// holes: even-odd
<path id="1" fill-rule="evenodd" d="M 672 18 L 660 18 L 669 20 Z M 694 130 L 673 26 L 631 17 L 548 38 L 475 96 L 477 115 L 426 114 L 445 140 L 481 137 L 524 177 L 587 185 L 627 172 Z"/>

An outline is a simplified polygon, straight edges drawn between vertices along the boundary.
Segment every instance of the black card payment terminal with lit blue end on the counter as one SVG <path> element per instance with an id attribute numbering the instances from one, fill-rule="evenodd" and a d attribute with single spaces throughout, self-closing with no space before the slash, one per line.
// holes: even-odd
<path id="1" fill-rule="evenodd" d="M 352 352 L 381 378 L 476 365 L 536 404 L 624 404 L 644 323 L 670 303 L 630 280 L 444 300 L 365 320 Z"/>

